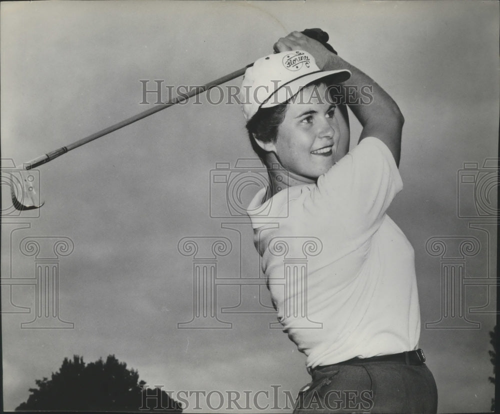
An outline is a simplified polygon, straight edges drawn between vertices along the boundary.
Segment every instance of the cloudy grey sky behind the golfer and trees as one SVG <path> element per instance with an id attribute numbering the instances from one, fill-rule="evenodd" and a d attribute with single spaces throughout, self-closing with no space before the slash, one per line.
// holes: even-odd
<path id="1" fill-rule="evenodd" d="M 487 411 L 495 320 L 487 312 L 496 302 L 487 284 L 468 279 L 496 269 L 488 224 L 496 187 L 478 185 L 491 183 L 483 162 L 498 151 L 498 10 L 496 1 L 2 2 L 1 156 L 20 164 L 147 109 L 140 80 L 150 80 L 149 89 L 153 80 L 202 84 L 270 53 L 292 30 L 323 28 L 406 119 L 404 189 L 389 215 L 415 248 L 420 346 L 437 382 L 438 410 Z M 6 409 L 73 354 L 90 362 L 113 353 L 148 384 L 174 392 L 251 391 L 253 398 L 280 385 L 296 395 L 308 382 L 305 356 L 269 329 L 276 319 L 265 287 L 217 286 L 216 314 L 229 329 L 177 328 L 193 315 L 193 258 L 177 249 L 183 237 L 201 237 L 200 249 L 209 237 L 230 240 L 231 251 L 217 258 L 217 279 L 259 274 L 248 220 L 220 217 L 225 189 L 210 176 L 218 162 L 233 167 L 254 157 L 240 108 L 199 101 L 40 166 L 45 205 L 36 214 L 12 215 L 2 185 L 2 279 L 34 277 L 41 256 L 21 252 L 25 237 L 74 244 L 58 261 L 59 317 L 72 329 L 21 328 L 34 317 L 34 286 L 2 286 Z M 351 121 L 353 145 L 360 128 Z M 459 179 L 464 162 L 477 163 L 467 173 L 475 184 Z M 479 212 L 477 197 L 486 204 Z M 444 240 L 445 256 L 426 251 L 431 237 Z M 477 245 L 469 256 L 458 248 L 466 240 Z M 442 268 L 457 263 L 467 279 L 457 305 L 464 313 L 426 326 L 441 318 Z M 221 311 L 229 307 L 233 313 Z M 186 411 L 195 412 L 193 402 Z M 203 398 L 200 405 L 207 409 Z"/>

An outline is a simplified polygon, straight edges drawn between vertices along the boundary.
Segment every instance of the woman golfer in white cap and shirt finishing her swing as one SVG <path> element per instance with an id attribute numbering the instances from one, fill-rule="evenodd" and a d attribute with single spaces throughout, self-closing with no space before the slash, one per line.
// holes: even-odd
<path id="1" fill-rule="evenodd" d="M 403 116 L 318 41 L 294 31 L 274 50 L 246 70 L 240 98 L 270 177 L 248 206 L 255 246 L 312 376 L 294 412 L 436 412 L 413 248 L 385 213 L 402 188 Z M 362 125 L 348 153 L 343 103 Z M 284 254 L 305 254 L 306 274 L 284 271 Z"/>

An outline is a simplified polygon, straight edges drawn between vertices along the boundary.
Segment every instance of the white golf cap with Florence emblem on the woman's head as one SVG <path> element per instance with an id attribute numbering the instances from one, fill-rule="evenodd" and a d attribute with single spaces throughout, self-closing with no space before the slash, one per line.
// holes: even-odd
<path id="1" fill-rule="evenodd" d="M 303 50 L 273 53 L 255 60 L 246 69 L 239 99 L 243 116 L 248 121 L 259 108 L 286 102 L 309 83 L 325 78 L 328 84 L 347 80 L 350 71 L 320 70 L 314 58 Z"/>

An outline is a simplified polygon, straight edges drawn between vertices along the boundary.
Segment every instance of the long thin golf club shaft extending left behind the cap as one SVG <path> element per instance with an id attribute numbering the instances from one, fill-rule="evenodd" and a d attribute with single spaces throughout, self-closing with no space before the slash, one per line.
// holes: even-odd
<path id="1" fill-rule="evenodd" d="M 228 74 L 226 74 L 222 77 L 219 77 L 218 79 L 212 80 L 211 82 L 208 82 L 202 86 L 195 87 L 192 90 L 189 90 L 188 92 L 183 93 L 182 96 L 177 96 L 175 99 L 171 100 L 170 102 L 155 105 L 152 108 L 146 109 L 140 113 L 137 113 L 136 115 L 133 115 L 133 116 L 130 116 L 129 118 L 123 119 L 122 121 L 117 122 L 113 125 L 110 125 L 107 128 L 101 129 L 100 131 L 97 131 L 95 133 L 92 133 L 91 135 L 85 136 L 84 138 L 78 139 L 77 141 L 74 141 L 68 145 L 62 146 L 62 147 L 55 149 L 53 151 L 47 152 L 46 154 L 43 154 L 43 155 L 39 156 L 38 158 L 32 159 L 31 161 L 24 162 L 24 168 L 31 169 L 31 168 L 37 167 L 38 165 L 44 164 L 48 161 L 51 161 L 54 158 L 57 158 L 58 156 L 66 153 L 67 151 L 70 151 L 71 149 L 77 148 L 78 146 L 81 146 L 87 142 L 93 141 L 94 139 L 100 138 L 101 136 L 104 136 L 110 132 L 113 132 L 117 129 L 123 128 L 124 126 L 130 125 L 131 123 L 138 121 L 139 119 L 145 118 L 146 116 L 152 115 L 153 113 L 159 112 L 162 109 L 166 109 L 166 108 L 173 106 L 177 103 L 184 102 L 187 99 L 189 99 L 190 97 L 197 95 L 205 90 L 208 90 L 211 87 L 220 85 L 220 84 L 225 83 L 231 79 L 242 76 L 245 73 L 246 68 L 250 67 L 252 64 L 253 63 L 250 63 L 247 66 L 242 67 L 241 69 L 238 69 L 238 70 L 235 70 L 234 72 L 228 73 Z"/>

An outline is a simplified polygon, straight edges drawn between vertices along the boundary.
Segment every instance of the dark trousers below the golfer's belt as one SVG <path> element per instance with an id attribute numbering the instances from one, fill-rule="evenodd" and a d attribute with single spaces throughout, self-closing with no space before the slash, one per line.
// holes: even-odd
<path id="1" fill-rule="evenodd" d="M 333 364 L 311 372 L 295 401 L 295 414 L 436 413 L 437 388 L 423 363 L 377 361 Z"/>

